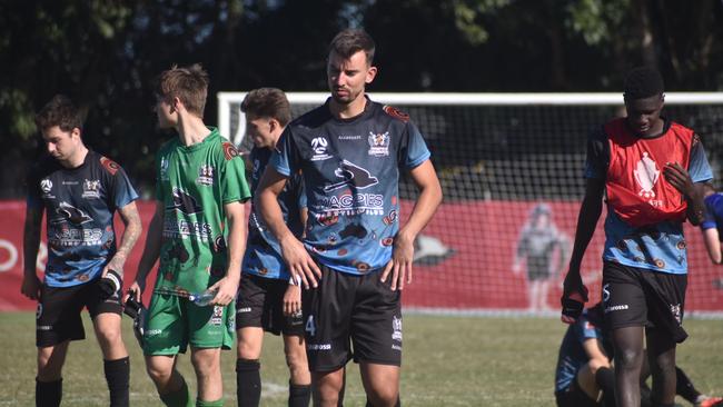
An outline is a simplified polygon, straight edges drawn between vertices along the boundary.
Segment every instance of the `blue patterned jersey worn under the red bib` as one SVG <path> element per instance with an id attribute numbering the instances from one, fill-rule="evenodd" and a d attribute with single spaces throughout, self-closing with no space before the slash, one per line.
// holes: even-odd
<path id="1" fill-rule="evenodd" d="M 663 131 L 670 128 L 666 121 Z M 687 172 L 693 182 L 705 182 L 713 178 L 703 145 L 695 137 L 691 148 Z M 604 131 L 591 133 L 587 141 L 585 177 L 605 180 L 610 165 L 610 145 Z M 670 274 L 687 272 L 687 250 L 683 236 L 683 224 L 663 221 L 634 228 L 623 221 L 608 208 L 605 218 L 605 249 L 603 259 L 628 267 Z"/>

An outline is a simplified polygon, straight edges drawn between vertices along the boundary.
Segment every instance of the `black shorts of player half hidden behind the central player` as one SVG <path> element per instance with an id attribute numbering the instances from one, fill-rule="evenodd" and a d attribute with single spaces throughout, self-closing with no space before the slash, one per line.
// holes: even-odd
<path id="1" fill-rule="evenodd" d="M 236 329 L 259 327 L 274 335 L 304 336 L 301 314 L 284 315 L 288 280 L 245 274 L 236 298 Z"/>

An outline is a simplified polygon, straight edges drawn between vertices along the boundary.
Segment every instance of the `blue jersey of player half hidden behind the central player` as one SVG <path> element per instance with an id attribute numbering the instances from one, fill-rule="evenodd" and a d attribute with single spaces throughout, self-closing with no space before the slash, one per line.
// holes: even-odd
<path id="1" fill-rule="evenodd" d="M 254 148 L 251 150 L 249 160 L 254 165 L 251 171 L 252 191 L 256 191 L 270 157 L 271 150 L 268 148 Z M 278 202 L 284 214 L 284 221 L 294 236 L 300 238 L 304 232 L 300 214 L 301 209 L 306 208 L 306 195 L 304 193 L 304 182 L 299 173 L 295 173 L 294 177 L 286 181 L 284 190 L 279 193 Z M 241 270 L 260 277 L 288 280 L 290 274 L 284 258 L 281 258 L 281 247 L 256 209 L 256 206 L 252 205 L 251 215 L 248 218 L 248 240 Z"/>

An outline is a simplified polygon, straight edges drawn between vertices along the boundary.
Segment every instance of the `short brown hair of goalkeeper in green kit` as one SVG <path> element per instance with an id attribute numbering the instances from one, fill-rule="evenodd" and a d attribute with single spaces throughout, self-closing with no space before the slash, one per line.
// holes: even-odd
<path id="1" fill-rule="evenodd" d="M 208 73 L 200 63 L 184 68 L 172 66 L 160 72 L 155 91 L 157 98 L 167 102 L 178 98 L 186 110 L 202 118 L 208 96 Z"/>

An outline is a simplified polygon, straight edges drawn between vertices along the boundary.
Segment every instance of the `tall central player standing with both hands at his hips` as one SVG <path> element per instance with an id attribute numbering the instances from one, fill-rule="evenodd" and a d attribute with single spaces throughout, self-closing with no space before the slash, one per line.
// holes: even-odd
<path id="1" fill-rule="evenodd" d="M 257 193 L 291 275 L 313 287 L 303 294 L 303 308 L 319 406 L 337 405 L 353 357 L 368 404 L 398 404 L 400 290 L 405 279 L 412 281 L 414 239 L 442 201 L 429 151 L 409 117 L 365 95 L 377 73 L 374 50 L 361 30 L 334 38 L 327 59 L 331 97 L 286 128 Z M 309 211 L 304 244 L 278 204 L 287 178 L 299 170 Z M 409 170 L 420 193 L 399 229 L 402 170 Z"/>

